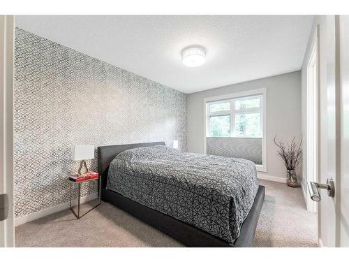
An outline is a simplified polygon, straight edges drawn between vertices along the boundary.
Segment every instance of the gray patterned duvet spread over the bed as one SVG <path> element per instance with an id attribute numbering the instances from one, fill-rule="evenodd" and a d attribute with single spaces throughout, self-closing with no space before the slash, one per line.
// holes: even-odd
<path id="1" fill-rule="evenodd" d="M 121 152 L 107 189 L 232 243 L 258 190 L 255 163 L 164 145 Z"/>

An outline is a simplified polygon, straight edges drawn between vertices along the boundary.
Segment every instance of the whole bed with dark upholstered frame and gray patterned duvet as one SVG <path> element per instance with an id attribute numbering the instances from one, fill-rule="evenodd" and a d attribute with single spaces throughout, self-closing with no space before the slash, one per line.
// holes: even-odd
<path id="1" fill-rule="evenodd" d="M 212 173 L 212 167 L 202 159 L 216 165 L 216 172 Z M 233 177 L 227 177 L 225 172 L 228 166 L 224 167 L 224 162 L 229 161 L 235 167 L 230 173 L 239 170 Z M 116 205 L 188 247 L 252 246 L 265 188 L 256 184 L 255 175 L 250 174 L 253 168 L 249 161 L 179 153 L 163 142 L 111 145 L 98 147 L 98 172 L 102 201 Z M 246 179 L 242 179 L 244 172 Z M 193 174 L 194 178 L 199 177 L 197 182 Z M 216 178 L 212 180 L 215 184 L 207 186 L 210 177 Z M 147 182 L 151 183 L 149 189 Z M 163 189 L 165 193 L 161 192 Z M 236 193 L 228 194 L 228 189 Z M 147 199 L 150 191 L 152 201 Z M 185 197 L 181 192 L 193 195 Z M 195 205 L 186 206 L 186 199 L 193 199 Z M 191 214 L 191 210 L 196 211 Z"/>

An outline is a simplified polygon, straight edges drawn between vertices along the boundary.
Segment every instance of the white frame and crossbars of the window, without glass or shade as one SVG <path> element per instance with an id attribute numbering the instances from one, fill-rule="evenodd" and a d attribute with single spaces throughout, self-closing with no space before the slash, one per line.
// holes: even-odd
<path id="1" fill-rule="evenodd" d="M 244 97 L 247 97 L 248 99 L 251 98 L 251 96 L 262 96 L 261 99 L 261 105 L 259 110 L 260 112 L 260 121 L 262 124 L 262 165 L 256 165 L 257 171 L 260 172 L 267 172 L 267 88 L 260 88 L 260 89 L 253 89 L 248 90 L 244 92 L 236 92 L 231 94 L 224 94 L 222 96 L 211 96 L 204 98 L 204 154 L 207 154 L 207 145 L 206 145 L 206 139 L 207 139 L 207 133 L 209 132 L 209 118 L 210 116 L 214 115 L 232 115 L 232 113 L 236 114 L 235 108 L 232 107 L 232 103 L 230 102 L 230 110 L 225 111 L 219 111 L 219 112 L 208 112 L 209 106 L 207 106 L 207 103 L 211 103 L 214 101 L 217 101 L 217 103 L 221 103 L 225 100 L 234 100 L 234 99 L 242 99 Z M 232 112 L 235 111 L 235 112 Z M 250 108 L 241 110 L 241 112 L 249 112 Z M 255 108 L 251 108 L 251 112 L 255 112 Z M 239 139 L 240 137 L 231 136 L 232 132 L 234 132 L 234 119 L 235 117 L 230 118 L 230 138 L 236 138 Z M 222 137 L 227 138 L 227 137 Z M 246 137 L 241 137 L 242 139 L 245 139 Z M 260 138 L 251 138 L 251 139 L 260 139 Z"/>

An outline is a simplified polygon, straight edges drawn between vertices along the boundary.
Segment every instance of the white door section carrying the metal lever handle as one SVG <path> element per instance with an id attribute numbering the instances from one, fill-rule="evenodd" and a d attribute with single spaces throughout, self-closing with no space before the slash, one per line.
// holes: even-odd
<path id="1" fill-rule="evenodd" d="M 339 123 L 339 83 L 336 80 L 336 17 L 327 15 L 320 24 L 320 180 L 326 183 L 332 177 L 335 189 L 338 189 L 339 154 L 337 150 Z M 339 194 L 334 198 L 327 197 L 325 190 L 321 191 L 322 200 L 319 203 L 319 245 L 336 246 L 336 203 Z"/>

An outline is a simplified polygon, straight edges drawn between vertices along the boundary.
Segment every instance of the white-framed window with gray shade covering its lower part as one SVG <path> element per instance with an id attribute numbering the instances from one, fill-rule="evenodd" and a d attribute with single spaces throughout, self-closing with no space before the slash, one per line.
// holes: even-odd
<path id="1" fill-rule="evenodd" d="M 207 143 L 210 152 L 223 150 L 222 154 L 229 150 L 234 154 L 254 154 L 253 150 L 258 150 L 260 156 L 262 150 L 261 159 L 249 159 L 257 160 L 257 171 L 267 172 L 266 98 L 266 88 L 205 98 L 204 153 L 207 154 Z M 253 145 L 253 150 L 249 145 Z"/>

